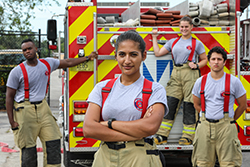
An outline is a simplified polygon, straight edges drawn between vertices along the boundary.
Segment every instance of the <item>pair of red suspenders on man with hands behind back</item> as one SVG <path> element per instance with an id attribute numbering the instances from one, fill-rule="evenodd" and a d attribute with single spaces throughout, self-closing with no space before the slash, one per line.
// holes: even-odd
<path id="1" fill-rule="evenodd" d="M 228 113 L 229 111 L 229 99 L 230 99 L 230 74 L 226 74 L 225 78 L 225 97 L 224 97 L 224 113 Z M 205 85 L 207 81 L 207 74 L 202 77 L 201 80 L 201 110 L 205 113 Z"/>

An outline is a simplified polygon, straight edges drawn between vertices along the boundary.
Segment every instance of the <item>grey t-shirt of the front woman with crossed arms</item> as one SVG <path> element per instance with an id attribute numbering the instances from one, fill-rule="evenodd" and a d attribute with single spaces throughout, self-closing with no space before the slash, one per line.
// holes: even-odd
<path id="1" fill-rule="evenodd" d="M 89 94 L 88 102 L 102 107 L 102 88 L 109 80 L 98 83 Z M 120 77 L 115 81 L 102 108 L 102 118 L 107 121 L 115 118 L 119 121 L 132 121 L 141 118 L 142 113 L 142 88 L 144 77 L 141 76 L 136 82 L 125 86 L 120 82 Z M 156 82 L 152 85 L 152 94 L 148 100 L 148 106 L 162 103 L 165 106 L 165 114 L 168 113 L 166 91 L 164 87 Z"/>

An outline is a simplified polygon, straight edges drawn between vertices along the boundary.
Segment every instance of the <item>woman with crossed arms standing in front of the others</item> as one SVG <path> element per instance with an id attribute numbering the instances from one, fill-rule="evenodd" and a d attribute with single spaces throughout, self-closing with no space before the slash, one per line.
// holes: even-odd
<path id="1" fill-rule="evenodd" d="M 164 166 L 152 135 L 168 112 L 167 98 L 162 85 L 140 74 L 146 54 L 145 42 L 136 31 L 121 34 L 115 43 L 115 58 L 122 74 L 98 83 L 88 97 L 83 133 L 102 141 L 93 167 Z M 109 95 L 104 96 L 108 88 Z"/>

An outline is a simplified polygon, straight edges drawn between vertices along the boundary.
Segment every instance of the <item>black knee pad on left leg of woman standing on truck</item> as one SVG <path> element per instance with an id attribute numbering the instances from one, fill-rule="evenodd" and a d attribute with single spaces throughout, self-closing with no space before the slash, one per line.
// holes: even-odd
<path id="1" fill-rule="evenodd" d="M 174 120 L 176 109 L 177 109 L 177 106 L 178 106 L 180 100 L 175 98 L 175 97 L 171 97 L 171 96 L 167 96 L 167 100 L 168 100 L 169 112 L 164 118 L 168 119 L 168 120 Z"/>

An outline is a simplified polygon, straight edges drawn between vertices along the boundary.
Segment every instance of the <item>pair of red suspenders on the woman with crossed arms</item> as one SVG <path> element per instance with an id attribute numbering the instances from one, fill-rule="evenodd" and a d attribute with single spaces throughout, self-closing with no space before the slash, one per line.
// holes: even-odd
<path id="1" fill-rule="evenodd" d="M 102 88 L 102 107 L 109 95 L 109 93 L 111 92 L 111 89 L 115 83 L 115 81 L 117 80 L 117 78 L 111 79 L 105 87 Z M 148 99 L 152 94 L 152 82 L 147 80 L 146 78 L 144 79 L 144 83 L 143 83 L 143 89 L 142 89 L 142 114 L 141 114 L 141 118 L 143 118 L 144 114 L 146 113 L 147 110 L 147 106 L 148 106 Z M 101 120 L 103 120 L 102 118 L 102 111 L 101 111 Z"/>

